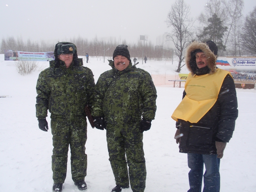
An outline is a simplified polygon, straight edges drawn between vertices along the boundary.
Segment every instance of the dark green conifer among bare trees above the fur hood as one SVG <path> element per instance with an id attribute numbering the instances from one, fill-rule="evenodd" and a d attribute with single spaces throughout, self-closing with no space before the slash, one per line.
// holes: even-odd
<path id="1" fill-rule="evenodd" d="M 219 50 L 226 50 L 226 46 L 223 45 L 223 36 L 227 31 L 227 27 L 223 25 L 222 20 L 217 16 L 217 14 L 213 14 L 211 18 L 208 19 L 208 26 L 203 28 L 201 34 L 197 35 L 200 41 L 211 40 L 216 43 Z"/>

